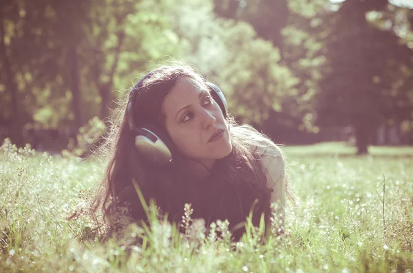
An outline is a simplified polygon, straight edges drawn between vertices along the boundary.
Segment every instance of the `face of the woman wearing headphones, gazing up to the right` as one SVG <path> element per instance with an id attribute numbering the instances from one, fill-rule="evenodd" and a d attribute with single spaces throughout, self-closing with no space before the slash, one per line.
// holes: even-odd
<path id="1" fill-rule="evenodd" d="M 167 132 L 178 150 L 212 167 L 231 150 L 229 130 L 209 90 L 192 78 L 179 78 L 162 103 Z M 218 137 L 213 137 L 215 134 Z M 211 137 L 213 137 L 211 139 Z"/>

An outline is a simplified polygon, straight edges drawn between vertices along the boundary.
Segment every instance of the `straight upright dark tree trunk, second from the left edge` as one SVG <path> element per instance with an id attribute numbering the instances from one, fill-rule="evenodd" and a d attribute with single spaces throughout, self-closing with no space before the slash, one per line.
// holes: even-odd
<path id="1" fill-rule="evenodd" d="M 76 46 L 73 45 L 69 48 L 69 61 L 70 61 L 70 79 L 72 80 L 72 107 L 74 111 L 74 124 L 76 127 L 76 132 L 81 126 L 83 126 L 82 121 L 82 111 L 81 111 L 81 80 L 78 68 L 78 53 Z"/>

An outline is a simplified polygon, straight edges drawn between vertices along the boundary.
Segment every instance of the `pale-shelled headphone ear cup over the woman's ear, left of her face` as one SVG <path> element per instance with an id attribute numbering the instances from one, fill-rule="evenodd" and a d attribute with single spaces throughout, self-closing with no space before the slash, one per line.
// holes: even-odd
<path id="1" fill-rule="evenodd" d="M 177 158 L 176 148 L 171 139 L 161 130 L 147 124 L 139 128 L 140 134 L 135 137 L 138 152 L 148 161 L 156 165 L 165 165 Z"/>

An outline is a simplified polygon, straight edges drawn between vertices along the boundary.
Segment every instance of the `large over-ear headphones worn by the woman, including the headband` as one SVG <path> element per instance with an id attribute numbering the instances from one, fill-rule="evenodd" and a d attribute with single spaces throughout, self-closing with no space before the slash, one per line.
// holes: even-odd
<path id="1" fill-rule="evenodd" d="M 143 82 L 160 69 L 162 69 L 162 67 L 147 73 L 147 75 L 135 84 L 129 93 L 126 108 L 127 123 L 130 132 L 134 134 L 136 149 L 140 154 L 145 156 L 149 162 L 155 165 L 165 165 L 180 157 L 179 152 L 176 150 L 168 134 L 164 132 L 165 130 L 161 130 L 153 124 L 144 124 L 138 127 L 134 121 L 134 102 L 136 96 L 140 93 Z M 221 89 L 211 82 L 207 82 L 207 86 L 211 91 L 212 98 L 218 103 L 224 117 L 226 117 L 228 115 L 228 104 Z"/>

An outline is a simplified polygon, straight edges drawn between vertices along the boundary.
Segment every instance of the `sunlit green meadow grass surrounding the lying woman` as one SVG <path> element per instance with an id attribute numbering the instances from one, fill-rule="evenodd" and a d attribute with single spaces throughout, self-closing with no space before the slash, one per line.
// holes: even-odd
<path id="1" fill-rule="evenodd" d="M 192 219 L 189 233 L 178 235 L 153 217 L 151 230 L 132 225 L 124 237 L 103 244 L 90 232 L 95 225 L 88 217 L 66 220 L 89 198 L 102 166 L 6 142 L 0 149 L 0 272 L 413 270 L 411 147 L 370 147 L 372 155 L 361 157 L 343 143 L 284 151 L 301 200 L 288 209 L 290 236 L 262 244 L 252 229 L 233 246 L 225 222 L 204 236 Z"/>

